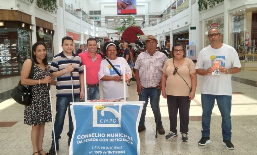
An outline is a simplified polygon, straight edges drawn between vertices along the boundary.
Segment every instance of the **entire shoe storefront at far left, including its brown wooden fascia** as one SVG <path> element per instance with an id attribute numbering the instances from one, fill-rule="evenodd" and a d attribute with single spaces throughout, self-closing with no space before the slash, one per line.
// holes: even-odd
<path id="1" fill-rule="evenodd" d="M 22 65 L 31 58 L 31 16 L 20 11 L 0 10 L 0 76 L 20 75 Z M 10 15 L 23 15 L 12 21 Z"/>

